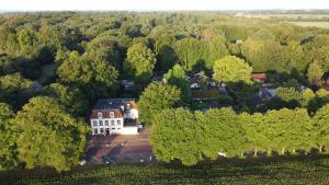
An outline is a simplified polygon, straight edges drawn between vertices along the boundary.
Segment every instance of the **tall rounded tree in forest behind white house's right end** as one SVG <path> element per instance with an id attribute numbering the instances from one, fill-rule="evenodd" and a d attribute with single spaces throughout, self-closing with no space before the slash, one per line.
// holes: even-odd
<path id="1" fill-rule="evenodd" d="M 146 45 L 139 43 L 128 48 L 124 70 L 136 81 L 147 82 L 152 77 L 155 65 L 155 54 Z"/>

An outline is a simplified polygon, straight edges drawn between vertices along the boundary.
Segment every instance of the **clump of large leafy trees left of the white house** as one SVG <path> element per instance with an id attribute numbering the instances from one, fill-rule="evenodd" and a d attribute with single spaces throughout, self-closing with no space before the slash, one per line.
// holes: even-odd
<path id="1" fill-rule="evenodd" d="M 69 170 L 78 164 L 88 132 L 83 119 L 75 118 L 54 97 L 33 97 L 16 114 L 9 104 L 0 103 L 0 171 Z"/>

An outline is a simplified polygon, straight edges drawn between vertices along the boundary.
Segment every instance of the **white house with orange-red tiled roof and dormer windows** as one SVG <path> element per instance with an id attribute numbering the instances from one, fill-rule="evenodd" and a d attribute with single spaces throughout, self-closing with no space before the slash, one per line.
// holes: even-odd
<path id="1" fill-rule="evenodd" d="M 138 135 L 137 120 L 133 99 L 99 100 L 90 116 L 92 135 Z"/>

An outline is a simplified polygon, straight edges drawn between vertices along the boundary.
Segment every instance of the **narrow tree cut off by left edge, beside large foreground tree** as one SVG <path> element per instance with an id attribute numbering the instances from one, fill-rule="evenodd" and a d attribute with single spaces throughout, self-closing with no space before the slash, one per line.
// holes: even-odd
<path id="1" fill-rule="evenodd" d="M 13 169 L 18 165 L 15 136 L 12 130 L 13 117 L 14 113 L 10 105 L 0 103 L 0 171 Z"/>

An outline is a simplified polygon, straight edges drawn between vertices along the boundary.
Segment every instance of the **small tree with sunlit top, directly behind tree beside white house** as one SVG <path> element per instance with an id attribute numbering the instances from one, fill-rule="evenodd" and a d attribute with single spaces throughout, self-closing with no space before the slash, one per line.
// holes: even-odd
<path id="1" fill-rule="evenodd" d="M 190 82 L 186 78 L 184 69 L 180 65 L 173 66 L 164 76 L 163 79 L 169 84 L 175 85 L 181 90 L 182 100 L 188 103 L 191 96 Z"/>

